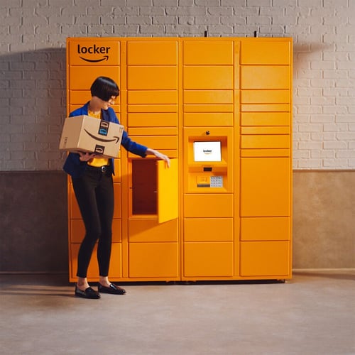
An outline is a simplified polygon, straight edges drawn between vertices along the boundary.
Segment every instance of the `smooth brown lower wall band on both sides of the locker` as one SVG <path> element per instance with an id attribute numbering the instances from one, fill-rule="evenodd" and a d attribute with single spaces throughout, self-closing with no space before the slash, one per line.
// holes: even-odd
<path id="1" fill-rule="evenodd" d="M 0 273 L 67 273 L 62 171 L 0 173 Z M 293 268 L 355 268 L 355 170 L 293 173 Z"/>

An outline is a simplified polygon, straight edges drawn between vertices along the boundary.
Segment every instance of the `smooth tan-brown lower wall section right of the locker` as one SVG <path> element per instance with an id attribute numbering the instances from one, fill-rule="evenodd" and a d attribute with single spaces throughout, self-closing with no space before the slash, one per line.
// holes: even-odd
<path id="1" fill-rule="evenodd" d="M 355 267 L 355 170 L 293 173 L 293 268 Z"/>

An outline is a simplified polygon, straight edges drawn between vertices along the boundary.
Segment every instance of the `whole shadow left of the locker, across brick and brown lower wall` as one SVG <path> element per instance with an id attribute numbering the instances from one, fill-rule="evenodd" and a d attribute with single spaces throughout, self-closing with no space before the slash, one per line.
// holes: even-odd
<path id="1" fill-rule="evenodd" d="M 65 48 L 0 56 L 0 272 L 67 273 L 65 62 Z"/>

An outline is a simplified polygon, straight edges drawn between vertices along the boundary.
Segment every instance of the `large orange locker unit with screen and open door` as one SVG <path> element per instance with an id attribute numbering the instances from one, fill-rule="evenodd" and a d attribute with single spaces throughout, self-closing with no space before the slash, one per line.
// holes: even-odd
<path id="1" fill-rule="evenodd" d="M 290 38 L 67 38 L 67 113 L 111 77 L 131 138 L 171 158 L 116 158 L 111 280 L 292 277 L 292 60 Z M 68 212 L 75 281 L 70 178 Z"/>

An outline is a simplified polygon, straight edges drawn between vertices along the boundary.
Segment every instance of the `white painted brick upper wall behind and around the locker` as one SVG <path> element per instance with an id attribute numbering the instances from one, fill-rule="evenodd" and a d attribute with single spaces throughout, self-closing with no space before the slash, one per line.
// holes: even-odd
<path id="1" fill-rule="evenodd" d="M 0 170 L 60 170 L 68 36 L 294 40 L 293 167 L 355 169 L 355 0 L 1 0 Z"/>

